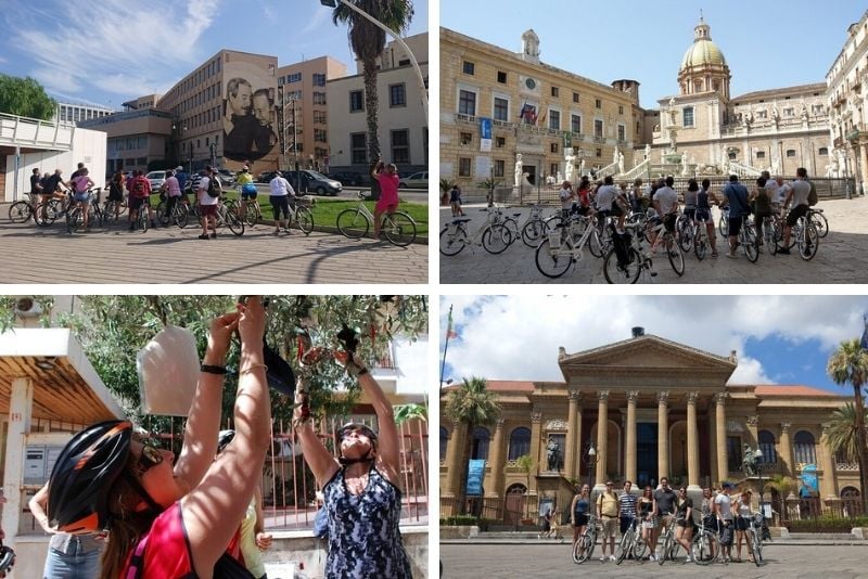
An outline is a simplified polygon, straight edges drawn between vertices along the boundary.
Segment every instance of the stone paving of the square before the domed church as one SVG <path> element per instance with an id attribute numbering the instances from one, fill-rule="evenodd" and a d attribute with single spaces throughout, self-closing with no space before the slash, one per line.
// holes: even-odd
<path id="1" fill-rule="evenodd" d="M 469 231 L 474 233 L 485 214 L 480 206 L 465 206 L 467 217 L 473 219 Z M 710 256 L 703 261 L 694 255 L 686 256 L 685 274 L 678 278 L 665 259 L 654 260 L 656 278 L 639 283 L 866 283 L 868 282 L 868 197 L 852 201 L 824 201 L 819 204 L 829 220 L 830 232 L 820 240 L 817 256 L 812 261 L 803 261 L 793 252 L 790 256 L 762 254 L 756 263 L 740 255 L 729 259 L 720 252 L 720 257 Z M 529 213 L 521 213 L 521 227 Z M 544 215 L 549 215 L 553 208 Z M 441 208 L 441 223 L 451 219 L 448 208 Z M 717 211 L 714 214 L 715 222 Z M 441 227 L 442 229 L 442 227 Z M 718 249 L 725 247 L 718 235 Z M 433 245 L 433 242 L 432 242 Z M 588 252 L 567 273 L 558 279 L 545 278 L 536 268 L 534 249 L 521 241 L 513 243 L 499 255 L 489 255 L 482 247 L 464 248 L 457 256 L 439 255 L 441 283 L 605 283 L 602 275 L 602 261 Z"/>

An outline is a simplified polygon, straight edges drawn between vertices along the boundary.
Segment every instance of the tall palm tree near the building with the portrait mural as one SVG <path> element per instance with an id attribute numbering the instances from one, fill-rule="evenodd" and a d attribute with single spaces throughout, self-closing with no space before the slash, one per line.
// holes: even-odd
<path id="1" fill-rule="evenodd" d="M 347 0 L 396 33 L 404 33 L 413 17 L 412 0 Z M 386 47 L 386 34 L 373 23 L 365 20 L 343 3 L 339 2 L 332 14 L 332 22 L 349 25 L 349 44 L 356 57 L 361 61 L 365 78 L 365 106 L 368 120 L 368 160 L 380 159 L 380 139 L 376 136 L 376 59 Z"/>

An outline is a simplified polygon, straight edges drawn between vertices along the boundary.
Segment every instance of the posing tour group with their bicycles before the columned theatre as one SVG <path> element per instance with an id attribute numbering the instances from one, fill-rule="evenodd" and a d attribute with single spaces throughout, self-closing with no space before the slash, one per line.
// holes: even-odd
<path id="1" fill-rule="evenodd" d="M 599 537 L 600 563 L 681 561 L 704 566 L 749 561 L 758 566 L 763 541 L 769 539 L 763 514 L 753 510 L 750 489 L 736 492 L 731 483 L 719 489 L 705 487 L 695 505 L 687 487 L 676 491 L 666 477 L 656 488 L 647 485 L 641 494 L 633 492 L 629 480 L 617 493 L 610 480 L 593 500 L 589 485 L 577 487 L 569 523 L 576 564 L 593 558 Z"/>

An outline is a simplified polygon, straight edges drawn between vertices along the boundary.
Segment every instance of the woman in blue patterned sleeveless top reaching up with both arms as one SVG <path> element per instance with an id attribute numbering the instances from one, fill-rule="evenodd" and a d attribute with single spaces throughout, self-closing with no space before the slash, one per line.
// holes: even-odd
<path id="1" fill-rule="evenodd" d="M 336 433 L 335 460 L 303 419 L 304 393 L 296 391 L 295 420 L 305 461 L 322 487 L 329 519 L 326 577 L 388 577 L 410 579 L 410 564 L 401 544 L 398 488 L 398 430 L 392 404 L 367 369 L 350 353 L 335 360 L 358 378 L 380 426 L 378 435 L 363 424 L 350 423 Z"/>

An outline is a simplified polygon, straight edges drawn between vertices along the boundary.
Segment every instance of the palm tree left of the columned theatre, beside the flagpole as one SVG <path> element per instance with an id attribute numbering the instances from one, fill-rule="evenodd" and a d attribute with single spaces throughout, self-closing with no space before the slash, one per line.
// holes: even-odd
<path id="1" fill-rule="evenodd" d="M 471 376 L 463 384 L 450 390 L 446 398 L 446 413 L 456 424 L 464 428 L 464 447 L 461 449 L 461 461 L 458 472 L 458 509 L 464 513 L 467 502 L 468 462 L 473 447 L 473 429 L 476 426 L 494 424 L 500 416 L 500 407 L 495 395 L 488 390 L 485 378 Z"/>

